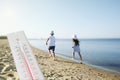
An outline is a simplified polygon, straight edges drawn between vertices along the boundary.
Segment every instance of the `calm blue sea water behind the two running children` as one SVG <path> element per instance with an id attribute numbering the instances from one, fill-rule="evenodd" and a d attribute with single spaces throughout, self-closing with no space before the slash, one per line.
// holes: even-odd
<path id="1" fill-rule="evenodd" d="M 47 51 L 46 40 L 29 40 L 38 49 Z M 82 39 L 81 55 L 85 63 L 120 72 L 120 39 Z M 72 40 L 56 40 L 56 54 L 72 57 Z M 79 60 L 78 54 L 75 54 Z"/>

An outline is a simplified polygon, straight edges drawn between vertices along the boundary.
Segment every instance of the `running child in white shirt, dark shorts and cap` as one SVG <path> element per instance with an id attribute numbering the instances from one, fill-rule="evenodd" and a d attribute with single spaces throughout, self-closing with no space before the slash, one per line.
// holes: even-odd
<path id="1" fill-rule="evenodd" d="M 53 36 L 54 32 L 51 31 L 50 37 L 46 41 L 46 45 L 48 45 L 48 50 L 50 56 L 53 57 L 53 60 L 55 59 L 55 37 Z"/>

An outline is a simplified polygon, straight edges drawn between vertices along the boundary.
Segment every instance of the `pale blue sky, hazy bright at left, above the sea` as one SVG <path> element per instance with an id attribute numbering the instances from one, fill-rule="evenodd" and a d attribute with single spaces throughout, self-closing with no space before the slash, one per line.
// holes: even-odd
<path id="1" fill-rule="evenodd" d="M 120 38 L 120 0 L 0 0 L 0 35 Z"/>

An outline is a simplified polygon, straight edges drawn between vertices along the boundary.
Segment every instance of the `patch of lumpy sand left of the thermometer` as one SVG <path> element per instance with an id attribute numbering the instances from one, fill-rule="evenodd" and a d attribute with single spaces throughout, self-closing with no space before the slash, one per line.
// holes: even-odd
<path id="1" fill-rule="evenodd" d="M 18 80 L 18 74 L 6 39 L 0 39 L 0 80 Z"/>

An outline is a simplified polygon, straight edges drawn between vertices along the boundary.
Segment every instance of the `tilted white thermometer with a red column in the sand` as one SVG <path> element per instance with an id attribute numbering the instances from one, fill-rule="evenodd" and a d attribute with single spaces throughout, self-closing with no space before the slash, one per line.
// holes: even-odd
<path id="1" fill-rule="evenodd" d="M 7 35 L 20 80 L 44 80 L 23 31 Z"/>

